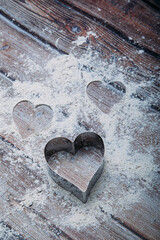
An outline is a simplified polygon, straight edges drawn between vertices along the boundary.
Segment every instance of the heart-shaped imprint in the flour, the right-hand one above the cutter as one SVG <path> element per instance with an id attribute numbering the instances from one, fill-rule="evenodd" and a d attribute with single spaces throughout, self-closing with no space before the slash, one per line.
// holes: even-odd
<path id="1" fill-rule="evenodd" d="M 107 85 L 100 81 L 88 84 L 87 94 L 89 98 L 104 113 L 109 113 L 114 104 L 124 96 L 126 88 L 121 82 L 110 82 Z"/>

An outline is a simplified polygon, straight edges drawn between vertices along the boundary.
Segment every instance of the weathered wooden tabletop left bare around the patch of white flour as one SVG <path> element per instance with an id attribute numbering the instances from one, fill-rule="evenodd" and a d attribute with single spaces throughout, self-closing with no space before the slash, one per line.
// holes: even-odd
<path id="1" fill-rule="evenodd" d="M 0 87 L 9 89 L 7 94 L 10 98 L 14 95 L 12 84 L 16 79 L 21 82 L 43 82 L 47 78 L 44 66 L 53 56 L 70 52 L 79 56 L 86 51 L 88 45 L 91 45 L 93 49 L 100 52 L 102 58 L 126 57 L 118 60 L 118 64 L 125 67 L 128 81 L 152 82 L 150 87 L 140 88 L 136 97 L 143 99 L 150 95 L 154 96 L 155 102 L 153 101 L 151 106 L 152 110 L 153 108 L 156 110 L 156 114 L 149 116 L 148 121 L 157 121 L 159 114 L 157 98 L 160 85 L 157 80 L 159 5 L 156 1 L 123 0 L 119 4 L 119 1 L 102 0 L 0 0 L 0 7 L 2 36 L 0 39 Z M 88 41 L 80 46 L 73 43 L 78 36 L 86 36 L 88 31 L 93 31 L 97 37 L 91 34 L 88 36 Z M 46 47 L 45 43 L 48 43 L 50 48 Z M 56 52 L 55 48 L 61 52 Z M 138 54 L 139 50 L 144 50 L 144 54 Z M 23 58 L 19 58 L 20 55 L 23 55 Z M 32 56 L 32 59 L 42 68 L 30 73 L 24 62 L 28 56 Z M 102 100 L 106 106 L 103 107 L 103 102 L 101 105 L 101 102 L 97 103 L 96 100 L 97 94 L 99 95 L 99 85 L 94 84 L 92 83 L 92 88 L 88 89 L 88 94 L 104 112 L 108 111 L 112 103 L 123 98 L 122 95 L 119 98 L 117 94 L 118 100 L 115 95 L 112 99 L 111 95 L 109 98 L 113 100 L 111 103 L 104 95 Z M 11 113 L 8 116 L 5 113 L 1 115 L 3 121 L 10 122 Z M 148 124 L 143 133 L 135 133 L 137 140 L 137 145 L 133 143 L 135 150 L 138 148 L 143 150 L 145 146 L 147 148 L 151 144 L 156 148 L 157 132 L 153 132 L 149 127 Z M 97 219 L 97 228 L 86 227 L 76 231 L 72 227 L 57 226 L 52 215 L 61 215 L 62 212 L 69 211 L 69 206 L 63 206 L 51 196 L 47 198 L 47 204 L 43 209 L 32 204 L 23 205 L 26 190 L 34 191 L 44 182 L 49 185 L 47 173 L 44 171 L 41 175 L 42 169 L 38 163 L 35 169 L 31 168 L 32 154 L 28 153 L 26 156 L 21 151 L 24 149 L 25 141 L 22 143 L 20 139 L 3 131 L 0 134 L 0 222 L 5 229 L 3 239 L 7 239 L 6 236 L 11 230 L 11 239 L 159 239 L 158 181 L 153 183 L 150 190 L 142 179 L 132 179 L 132 184 L 135 183 L 143 192 L 140 201 L 133 204 L 130 209 L 124 208 L 122 211 L 120 211 L 122 206 L 114 202 L 113 207 L 118 212 L 116 216 L 113 214 L 108 216 L 100 207 L 103 217 Z M 37 141 L 40 142 L 39 139 Z M 19 149 L 19 154 L 17 151 L 15 154 L 14 149 Z M 11 156 L 13 164 L 10 161 L 4 161 L 8 155 Z M 155 162 L 158 165 L 159 155 L 156 151 L 155 155 Z M 112 185 L 114 178 L 114 176 L 110 178 L 108 185 Z M 117 188 L 105 189 L 107 196 L 114 194 L 115 199 L 118 199 L 122 189 L 126 189 L 127 192 L 129 181 L 127 177 L 124 176 L 122 180 L 119 176 L 118 180 L 120 184 Z M 41 191 L 39 194 L 41 197 Z M 15 208 L 18 210 L 14 211 Z M 5 209 L 10 209 L 9 214 L 5 214 Z M 109 221 L 104 221 L 104 217 L 109 218 Z"/>

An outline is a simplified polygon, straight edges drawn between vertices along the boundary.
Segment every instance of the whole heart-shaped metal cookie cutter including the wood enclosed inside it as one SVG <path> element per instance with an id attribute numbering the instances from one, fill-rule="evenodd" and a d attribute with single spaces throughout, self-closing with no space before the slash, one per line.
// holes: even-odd
<path id="1" fill-rule="evenodd" d="M 44 154 L 53 180 L 85 203 L 103 170 L 102 138 L 93 132 L 78 135 L 74 142 L 54 138 L 46 144 Z"/>

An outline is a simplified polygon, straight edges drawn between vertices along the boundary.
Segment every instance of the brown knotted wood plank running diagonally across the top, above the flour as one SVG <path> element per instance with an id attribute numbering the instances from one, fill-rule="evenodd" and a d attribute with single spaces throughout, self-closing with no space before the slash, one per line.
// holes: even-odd
<path id="1" fill-rule="evenodd" d="M 88 19 L 70 7 L 51 1 L 3 1 L 1 9 L 22 27 L 33 34 L 37 34 L 51 45 L 57 46 L 64 52 L 84 52 L 88 47 L 88 40 L 106 58 L 126 57 L 123 65 L 137 69 L 142 76 L 154 77 L 157 74 L 158 59 L 141 48 L 119 37 L 111 29 Z M 33 24 L 34 22 L 34 24 Z M 96 33 L 96 37 L 94 34 Z M 88 35 L 89 34 L 89 35 Z M 74 43 L 79 37 L 86 37 L 86 42 L 80 46 Z M 149 74 L 149 75 L 148 75 Z M 151 76 L 150 75 L 150 76 Z"/>

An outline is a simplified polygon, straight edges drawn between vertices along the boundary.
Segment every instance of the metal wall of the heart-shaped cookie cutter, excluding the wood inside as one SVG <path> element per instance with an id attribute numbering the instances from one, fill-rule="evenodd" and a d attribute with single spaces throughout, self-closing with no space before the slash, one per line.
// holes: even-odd
<path id="1" fill-rule="evenodd" d="M 66 153 L 75 155 L 80 149 L 85 147 L 94 147 L 99 149 L 101 153 L 101 162 L 98 169 L 96 169 L 90 181 L 87 183 L 87 188 L 82 190 L 71 181 L 68 181 L 66 178 L 60 176 L 56 171 L 54 171 L 49 164 L 49 160 L 58 152 L 65 151 Z M 85 132 L 78 135 L 74 142 L 71 142 L 69 139 L 63 137 L 54 138 L 46 144 L 44 154 L 47 161 L 48 171 L 52 179 L 58 185 L 75 195 L 82 202 L 86 203 L 90 191 L 100 177 L 104 166 L 104 143 L 102 138 L 93 132 Z"/>

